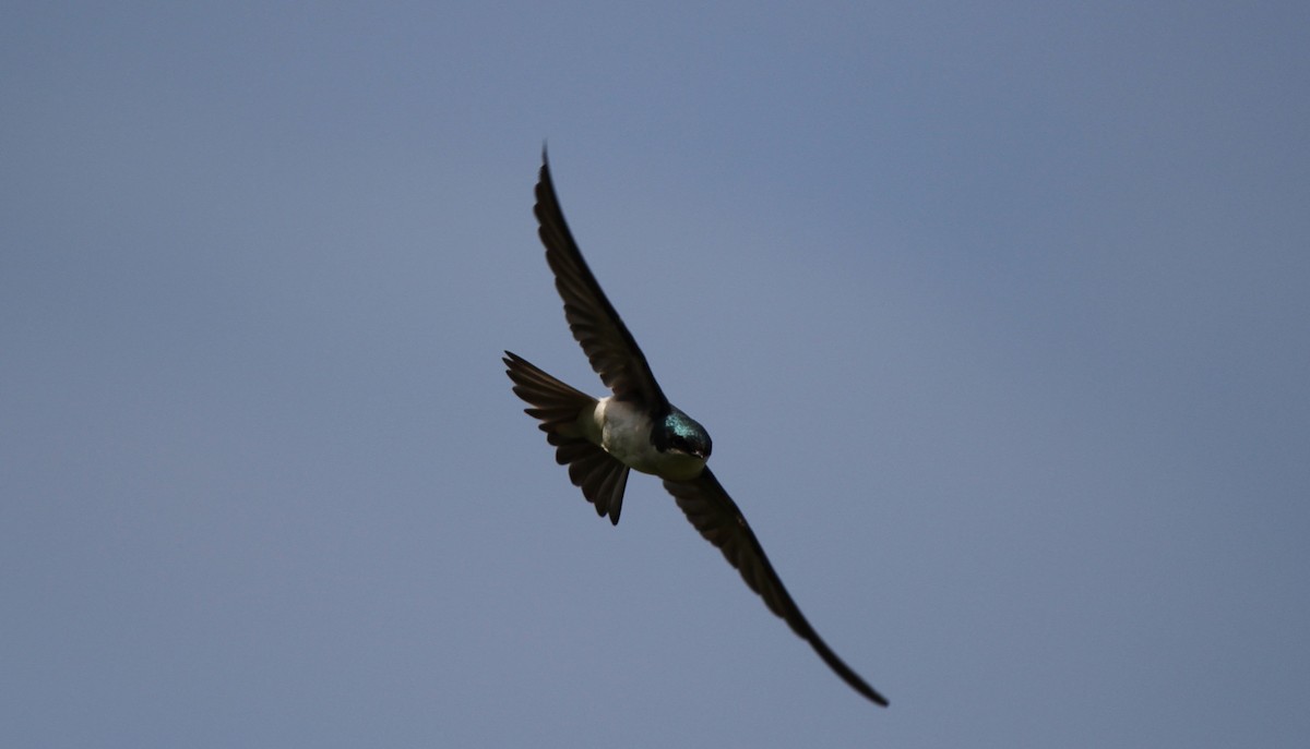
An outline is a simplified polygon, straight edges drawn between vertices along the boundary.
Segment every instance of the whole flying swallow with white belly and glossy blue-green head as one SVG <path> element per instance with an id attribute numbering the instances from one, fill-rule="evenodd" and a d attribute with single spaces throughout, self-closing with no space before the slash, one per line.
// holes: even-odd
<path id="1" fill-rule="evenodd" d="M 565 318 L 582 344 L 591 368 L 613 392 L 592 398 L 565 385 L 523 357 L 504 352 L 514 393 L 541 422 L 555 460 L 569 466 L 569 478 L 582 488 L 596 513 L 618 525 L 627 473 L 658 475 L 692 525 L 717 546 L 769 610 L 808 642 L 819 657 L 855 691 L 886 707 L 887 699 L 869 686 L 819 636 L 764 555 L 736 503 L 705 465 L 710 435 L 705 427 L 668 402 L 646 356 L 596 283 L 574 242 L 550 181 L 550 162 L 541 153 L 533 212 L 546 246 L 546 263 L 565 301 Z"/>

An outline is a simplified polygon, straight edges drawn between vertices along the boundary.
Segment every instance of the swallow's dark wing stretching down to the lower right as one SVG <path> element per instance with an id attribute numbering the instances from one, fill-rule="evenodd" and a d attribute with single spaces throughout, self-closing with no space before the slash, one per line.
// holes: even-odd
<path id="1" fill-rule="evenodd" d="M 793 631 L 815 648 L 828 668 L 837 672 L 837 676 L 855 691 L 887 707 L 887 698 L 865 684 L 865 680 L 859 678 L 858 673 L 837 657 L 837 653 L 832 652 L 819 632 L 806 621 L 800 608 L 787 594 L 778 574 L 769 564 L 769 558 L 764 555 L 764 549 L 760 547 L 760 541 L 747 525 L 741 511 L 738 509 L 728 492 L 723 491 L 723 486 L 714 478 L 710 469 L 705 469 L 698 478 L 689 482 L 665 481 L 664 488 L 677 499 L 677 505 L 683 508 L 686 519 L 701 532 L 701 536 L 718 546 L 728 564 L 741 572 L 745 584 L 764 598 L 770 612 L 782 617 Z"/>

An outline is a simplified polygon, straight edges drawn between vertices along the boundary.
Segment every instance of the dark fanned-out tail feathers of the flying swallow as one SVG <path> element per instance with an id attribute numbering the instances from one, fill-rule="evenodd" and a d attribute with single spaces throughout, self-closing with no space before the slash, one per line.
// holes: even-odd
<path id="1" fill-rule="evenodd" d="M 524 412 L 541 422 L 546 441 L 555 447 L 555 462 L 569 466 L 569 479 L 582 488 L 596 515 L 609 516 L 618 525 L 627 487 L 627 466 L 586 437 L 578 416 L 595 407 L 596 398 L 565 385 L 533 367 L 528 360 L 504 352 L 506 374 L 514 381 L 514 394 L 531 409 Z"/>

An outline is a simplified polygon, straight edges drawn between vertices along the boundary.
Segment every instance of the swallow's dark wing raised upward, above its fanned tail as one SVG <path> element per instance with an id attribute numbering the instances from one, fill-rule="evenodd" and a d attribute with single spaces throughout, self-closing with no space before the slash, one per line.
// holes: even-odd
<path id="1" fill-rule="evenodd" d="M 618 318 L 605 292 L 591 275 L 582 253 L 569 232 L 565 215 L 550 181 L 550 164 L 541 152 L 541 174 L 537 179 L 537 234 L 546 246 L 546 262 L 555 274 L 555 288 L 565 300 L 565 318 L 574 338 L 582 344 L 591 368 L 621 401 L 635 401 L 652 411 L 668 405 L 660 392 L 646 356 Z"/>

